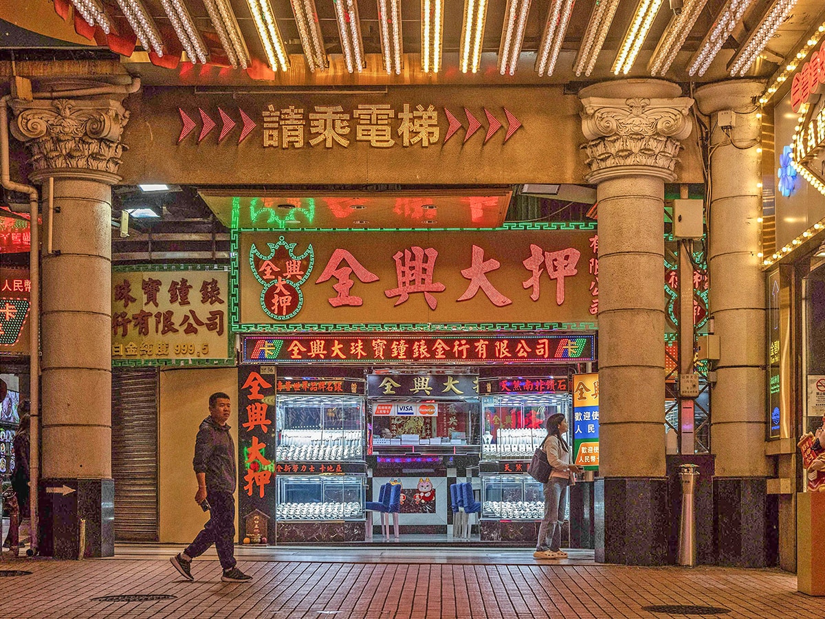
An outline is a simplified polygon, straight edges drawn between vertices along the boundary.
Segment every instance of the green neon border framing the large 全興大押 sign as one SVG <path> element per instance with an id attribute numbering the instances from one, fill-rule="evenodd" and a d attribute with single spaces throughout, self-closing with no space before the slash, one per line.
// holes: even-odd
<path id="1" fill-rule="evenodd" d="M 290 230 L 290 232 L 505 232 L 508 230 L 596 230 L 595 221 L 554 221 L 544 222 L 506 222 L 501 228 L 370 228 L 370 229 L 329 229 L 329 228 L 302 228 Z M 333 324 L 333 323 L 241 323 L 240 321 L 240 294 L 239 294 L 239 246 L 241 233 L 282 233 L 284 230 L 276 229 L 232 229 L 229 231 L 231 242 L 230 267 L 229 272 L 229 297 L 232 300 L 232 307 L 229 309 L 230 328 L 234 333 L 292 333 L 295 331 L 318 331 L 321 333 L 345 333 L 355 331 L 466 331 L 466 332 L 487 332 L 487 331 L 524 331 L 538 329 L 546 331 L 549 329 L 560 329 L 564 331 L 594 331 L 595 322 L 574 322 L 574 323 L 353 323 L 353 324 Z"/>

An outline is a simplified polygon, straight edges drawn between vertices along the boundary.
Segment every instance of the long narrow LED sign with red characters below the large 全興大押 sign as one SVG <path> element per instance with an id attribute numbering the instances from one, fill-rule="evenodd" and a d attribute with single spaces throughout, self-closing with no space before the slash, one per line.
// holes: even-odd
<path id="1" fill-rule="evenodd" d="M 595 361 L 594 340 L 592 333 L 247 336 L 242 359 L 243 363 L 570 363 Z"/>

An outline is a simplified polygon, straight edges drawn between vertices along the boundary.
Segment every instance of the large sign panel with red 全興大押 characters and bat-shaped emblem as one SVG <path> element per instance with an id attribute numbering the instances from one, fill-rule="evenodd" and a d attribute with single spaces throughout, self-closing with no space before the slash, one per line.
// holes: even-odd
<path id="1" fill-rule="evenodd" d="M 594 323 L 597 251 L 592 229 L 243 233 L 238 322 Z"/>

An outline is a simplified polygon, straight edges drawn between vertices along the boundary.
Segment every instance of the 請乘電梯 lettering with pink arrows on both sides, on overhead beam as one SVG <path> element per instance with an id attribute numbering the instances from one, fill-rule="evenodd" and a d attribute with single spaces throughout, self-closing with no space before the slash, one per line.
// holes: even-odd
<path id="1" fill-rule="evenodd" d="M 475 112 L 467 107 L 454 107 L 454 114 L 448 108 L 432 103 L 402 103 L 399 106 L 389 103 L 360 103 L 347 110 L 342 105 L 268 104 L 259 117 L 261 144 L 265 149 L 282 150 L 348 149 L 356 144 L 364 144 L 373 149 L 426 149 L 431 145 L 446 144 L 450 138 L 463 131 L 464 142 L 476 133 L 483 135 L 483 146 L 499 130 L 502 130 L 503 143 L 507 143 L 523 126 L 521 120 L 506 107 L 493 111 L 482 107 L 483 114 L 478 111 L 478 106 L 473 107 Z M 231 114 L 229 111 L 229 107 L 218 107 L 217 112 L 206 111 L 203 107 L 197 108 L 197 112 L 179 107 L 181 134 L 177 143 L 181 144 L 192 134 L 197 135 L 197 144 L 200 144 L 213 130 L 212 135 L 219 144 L 224 143 L 230 135 L 238 135 L 236 144 L 240 144 L 249 135 L 257 134 L 258 123 L 246 111 L 238 108 L 237 115 L 234 111 Z M 499 120 L 497 115 L 504 120 Z M 213 117 L 219 119 L 219 122 L 213 120 Z M 200 131 L 196 132 L 199 120 Z M 233 141 L 230 139 L 227 143 Z"/>

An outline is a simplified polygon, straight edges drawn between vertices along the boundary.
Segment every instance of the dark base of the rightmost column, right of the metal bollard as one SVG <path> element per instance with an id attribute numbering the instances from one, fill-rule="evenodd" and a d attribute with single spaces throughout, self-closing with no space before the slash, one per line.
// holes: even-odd
<path id="1" fill-rule="evenodd" d="M 765 568 L 776 565 L 779 502 L 767 494 L 766 477 L 714 478 L 716 565 Z"/>

